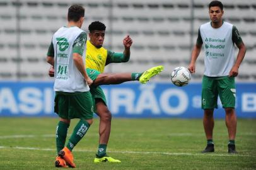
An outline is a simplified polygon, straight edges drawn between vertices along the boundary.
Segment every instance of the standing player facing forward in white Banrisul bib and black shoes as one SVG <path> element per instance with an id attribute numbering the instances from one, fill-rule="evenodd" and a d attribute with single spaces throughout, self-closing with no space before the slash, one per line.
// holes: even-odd
<path id="1" fill-rule="evenodd" d="M 211 21 L 201 25 L 197 43 L 192 51 L 189 71 L 195 72 L 195 60 L 204 46 L 204 76 L 202 78 L 202 109 L 204 110 L 204 131 L 207 146 L 202 150 L 214 152 L 212 131 L 214 128 L 213 112 L 217 108 L 218 96 L 226 112 L 228 128 L 228 153 L 236 153 L 236 113 L 235 113 L 235 77 L 245 57 L 246 47 L 234 25 L 223 21 L 223 4 L 220 1 L 209 3 Z M 239 51 L 235 60 L 235 45 Z"/>

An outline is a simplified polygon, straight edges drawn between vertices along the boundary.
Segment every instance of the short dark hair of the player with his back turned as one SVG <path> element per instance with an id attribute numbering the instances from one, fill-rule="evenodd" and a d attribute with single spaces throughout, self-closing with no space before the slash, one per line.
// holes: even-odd
<path id="1" fill-rule="evenodd" d="M 79 21 L 81 17 L 84 17 L 84 8 L 81 5 L 72 5 L 69 7 L 69 12 L 67 13 L 67 21 Z"/>

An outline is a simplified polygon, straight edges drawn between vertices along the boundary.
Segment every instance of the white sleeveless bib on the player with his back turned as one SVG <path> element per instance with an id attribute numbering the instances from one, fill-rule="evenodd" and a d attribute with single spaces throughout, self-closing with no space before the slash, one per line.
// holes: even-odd
<path id="1" fill-rule="evenodd" d="M 55 61 L 54 91 L 73 93 L 90 90 L 81 72 L 78 71 L 73 62 L 73 45 L 78 36 L 83 32 L 77 26 L 62 27 L 52 37 Z M 85 49 L 84 47 L 83 61 L 85 60 Z"/>

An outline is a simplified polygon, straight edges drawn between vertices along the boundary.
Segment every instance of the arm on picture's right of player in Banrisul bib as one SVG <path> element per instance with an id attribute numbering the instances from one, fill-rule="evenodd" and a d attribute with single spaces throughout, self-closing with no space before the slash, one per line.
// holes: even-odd
<path id="1" fill-rule="evenodd" d="M 239 31 L 235 26 L 233 26 L 232 29 L 232 41 L 236 44 L 236 47 L 238 47 L 239 51 L 236 57 L 235 65 L 233 65 L 229 76 L 236 77 L 238 75 L 238 69 L 240 67 L 240 64 L 243 61 L 243 58 L 245 57 L 246 47 L 245 44 L 243 43 L 243 40 L 241 39 Z"/>

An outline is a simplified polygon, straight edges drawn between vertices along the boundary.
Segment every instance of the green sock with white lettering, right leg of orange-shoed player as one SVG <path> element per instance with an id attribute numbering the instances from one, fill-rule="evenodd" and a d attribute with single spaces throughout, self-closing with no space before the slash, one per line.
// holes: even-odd
<path id="1" fill-rule="evenodd" d="M 84 137 L 89 127 L 89 123 L 84 120 L 80 120 L 76 127 L 74 127 L 74 131 L 66 145 L 70 151 L 72 151 L 74 146 Z"/>

